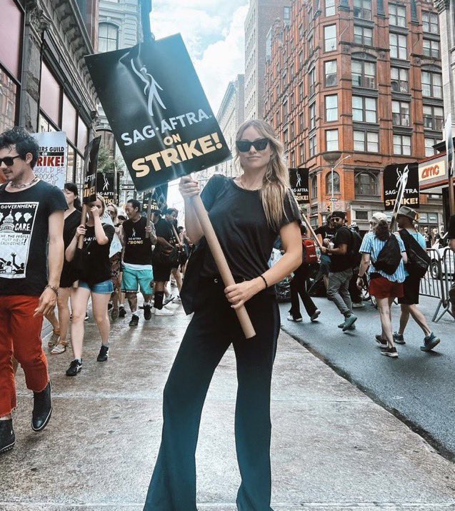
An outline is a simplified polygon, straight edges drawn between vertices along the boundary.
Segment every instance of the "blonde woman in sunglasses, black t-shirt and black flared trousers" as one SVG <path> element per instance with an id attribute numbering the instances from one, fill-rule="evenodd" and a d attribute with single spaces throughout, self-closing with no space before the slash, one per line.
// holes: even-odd
<path id="1" fill-rule="evenodd" d="M 181 298 L 194 316 L 164 390 L 163 436 L 145 510 L 196 509 L 194 453 L 202 405 L 231 343 L 239 380 L 236 446 L 242 479 L 236 502 L 241 510 L 270 510 L 270 385 L 280 325 L 273 285 L 301 263 L 300 213 L 289 188 L 283 146 L 271 126 L 244 123 L 236 147 L 241 176 L 214 176 L 201 195 L 235 285 L 224 289 L 203 238 L 191 199 L 199 195 L 198 183 L 189 176 L 181 179 L 186 231 L 198 244 Z M 269 269 L 277 235 L 285 253 Z M 256 330 L 249 340 L 234 313 L 244 304 Z"/>

